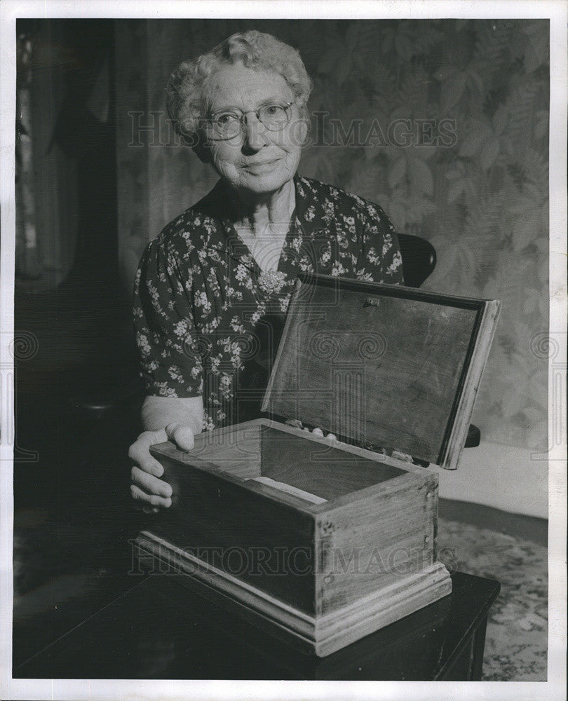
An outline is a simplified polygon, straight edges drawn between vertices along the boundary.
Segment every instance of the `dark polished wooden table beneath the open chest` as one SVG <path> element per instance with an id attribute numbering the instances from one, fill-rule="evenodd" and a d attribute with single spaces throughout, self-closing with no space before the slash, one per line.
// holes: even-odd
<path id="1" fill-rule="evenodd" d="M 308 657 L 177 583 L 140 583 L 13 670 L 53 679 L 479 680 L 499 583 L 452 576 L 445 599 L 327 658 Z"/>

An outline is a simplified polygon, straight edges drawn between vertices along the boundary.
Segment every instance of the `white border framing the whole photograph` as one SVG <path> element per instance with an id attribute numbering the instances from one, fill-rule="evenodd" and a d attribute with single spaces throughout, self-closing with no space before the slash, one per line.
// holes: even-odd
<path id="1" fill-rule="evenodd" d="M 4 376 L 9 368 L 9 341 L 13 337 L 14 291 L 14 144 L 15 144 L 15 20 L 16 18 L 346 18 L 346 19 L 434 19 L 519 18 L 550 19 L 550 332 L 564 359 L 567 358 L 567 21 L 563 0 L 337 0 L 310 2 L 291 0 L 88 0 L 0 2 L 0 138 L 1 138 L 1 265 L 0 265 L 0 364 Z M 12 334 L 12 336 L 11 336 Z M 555 367 L 557 374 L 558 367 Z M 11 383 L 12 382 L 12 383 Z M 0 391 L 0 425 L 10 416 L 13 380 Z M 553 372 L 550 367 L 549 401 L 553 401 Z M 549 404 L 560 414 L 562 442 L 557 444 L 550 426 L 553 451 L 549 461 L 549 638 L 546 682 L 290 682 L 278 681 L 137 681 L 88 679 L 12 679 L 12 539 L 13 539 L 13 446 L 0 444 L 0 697 L 3 699 L 199 699 L 262 701 L 310 697 L 313 699 L 385 699 L 407 701 L 456 698 L 518 701 L 520 698 L 562 701 L 566 694 L 566 395 L 560 406 Z M 13 412 L 13 407 L 12 407 Z M 557 437 L 557 435 L 556 435 Z"/>

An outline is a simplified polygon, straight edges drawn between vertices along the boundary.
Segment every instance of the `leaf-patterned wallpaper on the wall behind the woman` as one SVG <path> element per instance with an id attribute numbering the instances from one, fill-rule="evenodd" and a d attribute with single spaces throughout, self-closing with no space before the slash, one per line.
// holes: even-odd
<path id="1" fill-rule="evenodd" d="M 473 421 L 487 440 L 543 449 L 548 20 L 116 22 L 129 283 L 147 240 L 216 180 L 168 129 L 165 82 L 180 60 L 248 28 L 296 46 L 313 78 L 300 172 L 379 203 L 398 231 L 430 240 L 438 265 L 425 287 L 501 299 Z"/>

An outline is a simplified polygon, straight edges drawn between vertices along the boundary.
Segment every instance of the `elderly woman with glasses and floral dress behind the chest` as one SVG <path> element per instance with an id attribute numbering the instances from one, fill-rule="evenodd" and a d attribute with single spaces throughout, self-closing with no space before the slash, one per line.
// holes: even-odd
<path id="1" fill-rule="evenodd" d="M 170 116 L 219 181 L 149 243 L 135 283 L 147 397 L 129 456 L 147 512 L 171 504 L 151 444 L 191 450 L 195 433 L 259 411 L 297 275 L 402 282 L 380 207 L 297 175 L 310 91 L 297 51 L 255 31 L 170 77 Z"/>

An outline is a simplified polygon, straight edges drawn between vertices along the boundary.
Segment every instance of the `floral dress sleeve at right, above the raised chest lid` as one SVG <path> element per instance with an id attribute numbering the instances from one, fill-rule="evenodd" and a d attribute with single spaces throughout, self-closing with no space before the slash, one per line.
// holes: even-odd
<path id="1" fill-rule="evenodd" d="M 403 258 L 393 225 L 379 205 L 365 202 L 358 259 L 358 278 L 403 285 Z"/>

